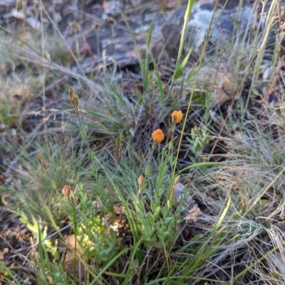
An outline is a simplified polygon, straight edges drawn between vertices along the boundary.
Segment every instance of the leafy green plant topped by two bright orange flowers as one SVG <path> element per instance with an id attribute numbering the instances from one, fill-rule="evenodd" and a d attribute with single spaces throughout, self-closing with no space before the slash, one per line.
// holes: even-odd
<path id="1" fill-rule="evenodd" d="M 179 116 L 179 117 L 178 117 Z M 177 122 L 182 120 L 182 112 L 175 111 L 173 117 L 174 131 Z M 167 139 L 169 136 L 167 136 Z M 152 133 L 154 144 L 152 146 L 152 154 L 157 144 L 164 139 L 164 134 L 161 129 L 157 129 Z M 145 178 L 140 176 L 139 193 L 133 194 L 133 201 L 135 206 L 135 213 L 137 216 L 137 226 L 142 237 L 145 237 L 145 247 L 152 250 L 160 250 L 161 252 L 169 252 L 172 245 L 175 243 L 179 231 L 182 204 L 174 210 L 173 206 L 180 201 L 175 201 L 175 187 L 179 183 L 179 176 L 174 182 L 171 181 L 170 187 L 167 188 L 165 181 L 171 179 L 167 177 L 168 169 L 172 168 L 174 160 L 172 156 L 172 141 L 162 149 L 162 159 L 158 166 L 157 178 L 155 179 L 155 188 L 148 190 L 148 195 L 145 195 L 147 190 L 147 179 L 150 178 L 151 163 L 145 169 Z M 150 162 L 152 155 L 150 156 Z"/>

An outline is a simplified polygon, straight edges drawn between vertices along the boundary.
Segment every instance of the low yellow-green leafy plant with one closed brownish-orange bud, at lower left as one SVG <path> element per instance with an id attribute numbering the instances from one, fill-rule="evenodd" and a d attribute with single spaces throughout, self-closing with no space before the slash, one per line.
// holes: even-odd
<path id="1" fill-rule="evenodd" d="M 116 232 L 108 226 L 105 217 L 108 215 L 108 220 L 112 218 L 113 203 L 108 205 L 109 195 L 100 185 L 100 181 L 102 181 L 100 178 L 96 185 L 96 191 L 100 198 L 98 203 L 90 200 L 84 191 L 83 184 L 78 181 L 76 176 L 73 175 L 73 178 L 71 187 L 65 185 L 62 190 L 67 200 L 62 198 L 60 200 L 61 203 L 67 204 L 69 220 L 73 221 L 73 232 L 78 237 L 76 242 L 78 240 L 80 248 L 86 252 L 83 258 L 92 259 L 95 266 L 100 267 L 108 264 L 118 254 L 120 248 L 120 238 L 116 238 Z M 98 205 L 104 205 L 99 212 L 95 211 Z"/>

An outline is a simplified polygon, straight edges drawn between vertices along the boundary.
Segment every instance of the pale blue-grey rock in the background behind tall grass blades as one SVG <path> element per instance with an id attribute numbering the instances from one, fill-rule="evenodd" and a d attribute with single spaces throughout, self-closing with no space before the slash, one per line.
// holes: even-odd
<path id="1" fill-rule="evenodd" d="M 234 31 L 234 26 L 238 23 L 239 33 L 244 33 L 247 23 L 253 22 L 252 4 L 249 0 L 244 1 L 244 5 L 239 12 L 239 1 L 228 1 L 224 11 L 221 9 L 224 1 L 219 1 L 219 8 L 214 13 L 214 1 L 197 2 L 192 8 L 190 19 L 187 23 L 187 31 L 185 36 L 184 51 L 187 53 L 190 48 L 193 48 L 195 53 L 198 53 L 199 48 L 203 45 L 207 36 L 207 31 L 210 26 L 212 17 L 212 29 L 210 43 L 218 43 L 229 39 Z M 182 6 L 177 9 L 165 25 L 162 27 L 162 34 L 166 42 L 166 50 L 170 57 L 176 57 L 184 24 L 184 16 L 187 6 Z M 240 13 L 240 14 L 239 14 Z M 214 14 L 214 16 L 213 16 Z M 220 42 L 222 44 L 222 42 Z"/>

